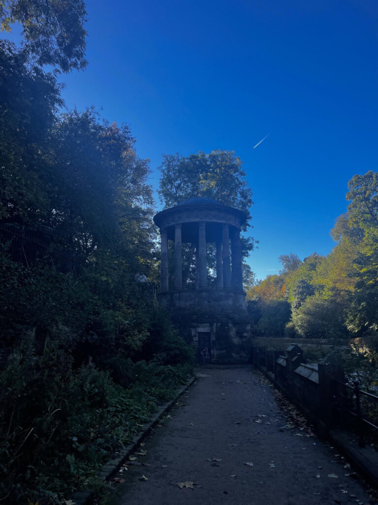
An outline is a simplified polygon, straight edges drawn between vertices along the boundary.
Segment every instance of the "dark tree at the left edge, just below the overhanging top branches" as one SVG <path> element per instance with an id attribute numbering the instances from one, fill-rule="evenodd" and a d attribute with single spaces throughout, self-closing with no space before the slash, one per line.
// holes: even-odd
<path id="1" fill-rule="evenodd" d="M 0 41 L 0 221 L 45 225 L 51 132 L 62 105 L 55 78 L 29 68 L 25 54 Z"/>

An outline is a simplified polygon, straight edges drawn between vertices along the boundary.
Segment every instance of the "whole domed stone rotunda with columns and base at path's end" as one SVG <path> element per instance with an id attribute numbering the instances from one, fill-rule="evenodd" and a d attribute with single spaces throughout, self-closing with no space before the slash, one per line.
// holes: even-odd
<path id="1" fill-rule="evenodd" d="M 182 337 L 196 346 L 199 362 L 235 363 L 249 359 L 250 331 L 240 243 L 240 227 L 245 221 L 242 211 L 203 196 L 188 198 L 154 217 L 161 235 L 160 303 L 171 313 Z M 168 240 L 174 243 L 171 269 Z M 183 283 L 183 243 L 191 244 L 195 250 L 195 285 Z M 213 244 L 216 251 L 216 279 L 212 286 L 207 244 Z M 169 278 L 173 281 L 168 282 Z"/>

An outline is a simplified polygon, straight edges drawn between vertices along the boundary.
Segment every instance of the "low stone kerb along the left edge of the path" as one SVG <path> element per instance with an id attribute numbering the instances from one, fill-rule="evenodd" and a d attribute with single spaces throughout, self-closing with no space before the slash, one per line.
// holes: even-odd
<path id="1" fill-rule="evenodd" d="M 174 407 L 178 398 L 191 386 L 193 386 L 196 380 L 197 377 L 191 377 L 188 379 L 186 384 L 177 390 L 175 397 L 172 400 L 163 403 L 163 405 L 159 407 L 158 411 L 154 414 L 151 420 L 143 425 L 143 429 L 134 435 L 132 441 L 119 450 L 119 457 L 108 461 L 106 465 L 100 468 L 98 476 L 102 482 L 105 482 L 116 475 L 120 467 L 129 458 L 132 452 L 136 450 L 137 446 L 151 433 L 152 429 L 158 424 L 164 414 L 166 414 Z M 83 491 L 76 491 L 71 496 L 71 501 L 72 505 L 88 505 L 91 503 L 91 500 L 93 498 L 94 492 L 91 489 L 86 489 Z"/>

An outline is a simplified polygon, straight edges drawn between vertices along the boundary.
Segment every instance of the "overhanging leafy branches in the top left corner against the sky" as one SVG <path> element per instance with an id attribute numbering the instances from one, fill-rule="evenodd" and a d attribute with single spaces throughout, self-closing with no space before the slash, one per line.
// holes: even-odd
<path id="1" fill-rule="evenodd" d="M 22 52 L 31 63 L 51 65 L 63 72 L 81 70 L 85 60 L 83 0 L 1 0 L 0 28 L 10 32 L 22 27 Z"/>

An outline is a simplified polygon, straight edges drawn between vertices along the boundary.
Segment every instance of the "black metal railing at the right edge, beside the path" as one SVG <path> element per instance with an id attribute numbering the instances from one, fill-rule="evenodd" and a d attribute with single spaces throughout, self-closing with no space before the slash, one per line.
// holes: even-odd
<path id="1" fill-rule="evenodd" d="M 353 386 L 337 380 L 334 384 L 340 424 L 354 426 L 360 447 L 365 447 L 366 435 L 378 439 L 378 396 L 361 390 L 357 381 Z"/>

